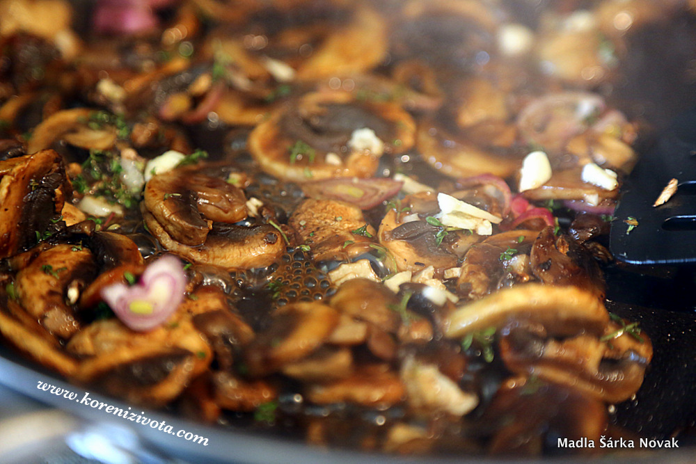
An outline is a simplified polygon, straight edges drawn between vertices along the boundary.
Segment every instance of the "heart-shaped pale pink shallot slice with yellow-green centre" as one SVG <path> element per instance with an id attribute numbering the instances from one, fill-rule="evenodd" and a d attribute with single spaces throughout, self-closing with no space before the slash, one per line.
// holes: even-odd
<path id="1" fill-rule="evenodd" d="M 180 260 L 165 255 L 150 264 L 136 285 L 108 285 L 100 294 L 116 317 L 132 330 L 152 330 L 176 311 L 187 279 Z"/>

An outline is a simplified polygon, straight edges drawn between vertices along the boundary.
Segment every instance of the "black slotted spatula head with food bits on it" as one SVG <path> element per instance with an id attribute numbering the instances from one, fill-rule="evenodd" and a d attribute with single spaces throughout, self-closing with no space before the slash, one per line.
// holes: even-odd
<path id="1" fill-rule="evenodd" d="M 679 181 L 677 193 L 654 207 L 670 179 Z M 610 248 L 617 259 L 631 264 L 696 262 L 696 109 L 679 116 L 642 154 L 614 216 Z"/>

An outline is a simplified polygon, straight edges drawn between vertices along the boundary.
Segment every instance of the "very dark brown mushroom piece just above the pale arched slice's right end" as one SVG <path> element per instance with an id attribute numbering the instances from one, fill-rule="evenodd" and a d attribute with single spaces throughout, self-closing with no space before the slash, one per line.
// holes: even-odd
<path id="1" fill-rule="evenodd" d="M 551 227 L 539 232 L 532 245 L 534 275 L 550 285 L 575 285 L 604 298 L 601 270 L 590 252 L 565 234 L 556 237 Z"/>

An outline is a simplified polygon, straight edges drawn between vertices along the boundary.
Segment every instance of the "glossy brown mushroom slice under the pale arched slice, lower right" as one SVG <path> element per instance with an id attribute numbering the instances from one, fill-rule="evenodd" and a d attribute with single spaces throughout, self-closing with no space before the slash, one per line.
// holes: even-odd
<path id="1" fill-rule="evenodd" d="M 613 332 L 619 329 L 615 323 L 608 326 Z M 615 346 L 615 341 L 621 345 Z M 640 388 L 652 358 L 652 345 L 644 334 L 638 342 L 626 332 L 613 338 L 611 344 L 610 348 L 591 335 L 548 338 L 544 333 L 519 326 L 511 328 L 500 340 L 500 353 L 507 368 L 514 372 L 533 373 L 546 381 L 618 403 Z"/>

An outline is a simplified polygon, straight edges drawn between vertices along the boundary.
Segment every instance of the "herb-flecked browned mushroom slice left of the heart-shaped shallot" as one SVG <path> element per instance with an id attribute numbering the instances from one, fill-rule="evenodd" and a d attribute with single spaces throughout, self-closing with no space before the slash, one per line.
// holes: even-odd
<path id="1" fill-rule="evenodd" d="M 79 330 L 79 322 L 70 307 L 77 302 L 79 294 L 70 295 L 70 288 L 74 282 L 77 287 L 84 287 L 95 272 L 95 260 L 89 250 L 55 246 L 40 253 L 17 273 L 19 301 L 50 333 L 68 338 Z"/>

